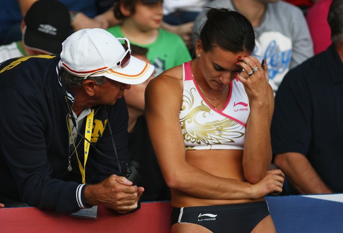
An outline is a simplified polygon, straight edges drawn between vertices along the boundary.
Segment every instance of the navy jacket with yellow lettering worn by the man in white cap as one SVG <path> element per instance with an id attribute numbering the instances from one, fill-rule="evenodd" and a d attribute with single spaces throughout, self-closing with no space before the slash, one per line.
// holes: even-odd
<path id="1" fill-rule="evenodd" d="M 59 56 L 13 58 L 0 64 L 0 193 L 40 209 L 75 212 L 86 207 L 77 158 L 68 172 L 69 131 L 65 90 L 58 78 Z M 72 98 L 73 93 L 71 93 Z M 73 103 L 70 102 L 72 105 Z M 108 117 L 107 117 L 108 116 Z M 107 119 L 108 118 L 108 119 Z M 84 120 L 80 132 L 85 132 Z M 129 162 L 125 100 L 95 106 L 86 183 L 119 175 Z M 76 145 L 83 163 L 84 139 Z"/>

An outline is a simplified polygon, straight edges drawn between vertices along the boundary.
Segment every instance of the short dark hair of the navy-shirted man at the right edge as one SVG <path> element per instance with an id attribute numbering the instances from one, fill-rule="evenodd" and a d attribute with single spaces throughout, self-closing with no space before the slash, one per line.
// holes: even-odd
<path id="1" fill-rule="evenodd" d="M 331 28 L 331 41 L 343 42 L 343 0 L 333 0 L 328 14 Z"/>

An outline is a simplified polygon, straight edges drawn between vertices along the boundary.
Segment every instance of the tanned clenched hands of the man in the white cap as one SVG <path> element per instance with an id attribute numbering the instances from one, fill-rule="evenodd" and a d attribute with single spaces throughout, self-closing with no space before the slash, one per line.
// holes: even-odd
<path id="1" fill-rule="evenodd" d="M 98 184 L 87 185 L 85 201 L 88 205 L 104 205 L 118 213 L 126 213 L 137 208 L 143 187 L 132 186 L 124 176 L 111 175 Z"/>

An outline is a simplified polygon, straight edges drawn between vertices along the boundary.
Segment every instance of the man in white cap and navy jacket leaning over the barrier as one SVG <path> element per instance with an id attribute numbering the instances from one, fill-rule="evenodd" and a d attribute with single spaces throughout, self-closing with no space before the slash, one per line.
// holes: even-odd
<path id="1" fill-rule="evenodd" d="M 153 70 L 103 29 L 73 33 L 61 56 L 1 63 L 0 202 L 56 213 L 136 209 L 144 188 L 128 177 L 123 94 Z"/>

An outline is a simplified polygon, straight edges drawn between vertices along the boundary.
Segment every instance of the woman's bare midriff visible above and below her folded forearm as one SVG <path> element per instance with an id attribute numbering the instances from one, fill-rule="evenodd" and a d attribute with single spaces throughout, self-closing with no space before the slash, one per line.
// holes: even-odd
<path id="1" fill-rule="evenodd" d="M 243 175 L 243 150 L 189 150 L 186 161 L 212 175 L 247 181 Z M 189 174 L 191 176 L 191 174 Z M 201 188 L 201 187 L 199 187 Z M 264 200 L 260 199 L 204 199 L 171 189 L 173 207 L 227 205 Z"/>

